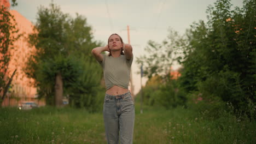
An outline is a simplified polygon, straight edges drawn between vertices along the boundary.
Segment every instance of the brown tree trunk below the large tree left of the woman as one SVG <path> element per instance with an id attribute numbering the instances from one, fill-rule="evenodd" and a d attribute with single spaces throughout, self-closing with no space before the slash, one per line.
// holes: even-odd
<path id="1" fill-rule="evenodd" d="M 63 81 L 61 73 L 57 73 L 55 80 L 55 106 L 62 106 L 62 97 L 63 97 Z"/>

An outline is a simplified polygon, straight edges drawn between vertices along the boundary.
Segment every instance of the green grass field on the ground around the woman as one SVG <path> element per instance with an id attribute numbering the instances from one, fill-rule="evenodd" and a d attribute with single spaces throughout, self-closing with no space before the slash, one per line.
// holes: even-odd
<path id="1" fill-rule="evenodd" d="M 102 113 L 42 107 L 0 109 L 0 143 L 106 143 Z M 229 113 L 208 118 L 190 109 L 136 104 L 133 143 L 256 143 L 255 121 Z"/>

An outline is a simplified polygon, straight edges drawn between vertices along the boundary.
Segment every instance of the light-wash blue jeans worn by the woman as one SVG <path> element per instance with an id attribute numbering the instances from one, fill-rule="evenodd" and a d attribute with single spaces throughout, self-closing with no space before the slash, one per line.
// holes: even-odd
<path id="1" fill-rule="evenodd" d="M 107 142 L 132 143 L 135 107 L 131 93 L 105 95 L 103 118 Z"/>

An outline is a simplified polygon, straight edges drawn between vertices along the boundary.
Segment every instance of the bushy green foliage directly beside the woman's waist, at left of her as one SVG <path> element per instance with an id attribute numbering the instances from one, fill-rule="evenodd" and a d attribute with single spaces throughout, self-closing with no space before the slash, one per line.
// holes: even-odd
<path id="1" fill-rule="evenodd" d="M 101 110 L 105 91 L 100 83 L 102 70 L 98 70 L 98 63 L 89 63 L 88 57 L 82 59 L 82 74 L 73 83 L 69 101 L 74 107 L 85 107 L 92 112 Z"/>

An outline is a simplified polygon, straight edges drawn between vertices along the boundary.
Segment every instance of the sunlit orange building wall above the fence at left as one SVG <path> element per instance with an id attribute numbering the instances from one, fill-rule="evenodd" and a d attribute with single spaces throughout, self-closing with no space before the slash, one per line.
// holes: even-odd
<path id="1" fill-rule="evenodd" d="M 32 79 L 28 79 L 22 71 L 22 68 L 25 67 L 25 62 L 34 50 L 34 47 L 30 47 L 27 43 L 28 34 L 33 31 L 33 24 L 16 10 L 10 10 L 10 13 L 14 15 L 19 33 L 24 34 L 24 36 L 22 36 L 18 41 L 15 41 L 15 49 L 13 50 L 13 53 L 11 53 L 11 67 L 9 66 L 10 72 L 17 69 L 16 75 L 13 79 L 14 91 L 18 92 L 21 97 L 35 98 L 36 88 L 32 87 L 32 83 L 34 81 Z"/>

